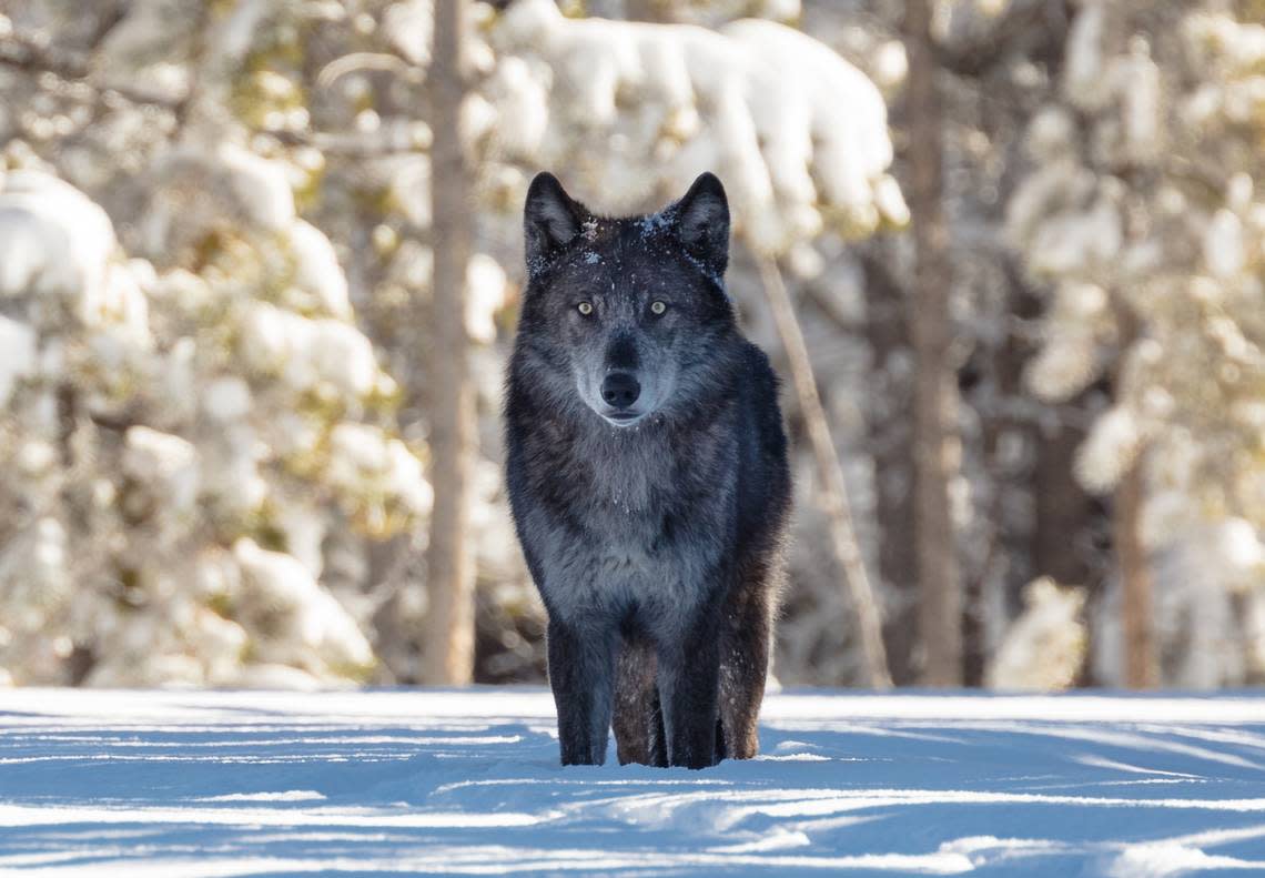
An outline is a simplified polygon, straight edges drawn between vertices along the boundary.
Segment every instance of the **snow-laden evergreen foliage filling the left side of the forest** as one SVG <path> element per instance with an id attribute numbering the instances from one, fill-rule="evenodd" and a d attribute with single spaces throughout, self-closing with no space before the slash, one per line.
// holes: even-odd
<path id="1" fill-rule="evenodd" d="M 367 678 L 372 607 L 330 563 L 423 519 L 430 486 L 335 248 L 299 216 L 320 154 L 247 140 L 305 130 L 250 66 L 319 10 L 5 11 L 0 668 Z"/>

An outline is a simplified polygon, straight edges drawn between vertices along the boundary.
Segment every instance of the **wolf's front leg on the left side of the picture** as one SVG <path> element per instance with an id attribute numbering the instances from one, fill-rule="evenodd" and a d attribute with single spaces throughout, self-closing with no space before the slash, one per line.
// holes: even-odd
<path id="1" fill-rule="evenodd" d="M 549 621 L 549 686 L 558 706 L 563 765 L 601 765 L 611 727 L 615 631 Z"/>

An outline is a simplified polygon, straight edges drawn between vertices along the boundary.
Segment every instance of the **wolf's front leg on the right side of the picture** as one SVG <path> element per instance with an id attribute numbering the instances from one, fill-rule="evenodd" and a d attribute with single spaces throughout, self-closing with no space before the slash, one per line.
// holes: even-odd
<path id="1" fill-rule="evenodd" d="M 719 640 L 715 614 L 701 612 L 683 638 L 659 645 L 659 698 L 669 765 L 716 764 Z"/>

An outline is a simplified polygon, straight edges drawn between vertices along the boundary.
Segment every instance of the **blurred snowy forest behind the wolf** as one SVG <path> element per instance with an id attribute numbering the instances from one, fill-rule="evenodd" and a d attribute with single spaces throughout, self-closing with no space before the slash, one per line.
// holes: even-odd
<path id="1" fill-rule="evenodd" d="M 0 682 L 541 681 L 538 170 L 701 171 L 783 683 L 1265 682 L 1262 0 L 0 0 Z"/>

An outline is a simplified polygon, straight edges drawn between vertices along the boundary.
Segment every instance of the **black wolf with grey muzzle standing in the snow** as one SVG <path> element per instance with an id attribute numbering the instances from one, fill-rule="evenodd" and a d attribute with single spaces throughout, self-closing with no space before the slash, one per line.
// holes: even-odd
<path id="1" fill-rule="evenodd" d="M 778 381 L 725 290 L 729 204 L 703 173 L 598 216 L 553 175 L 524 207 L 506 377 L 510 506 L 548 612 L 562 763 L 756 754 L 791 505 Z"/>

